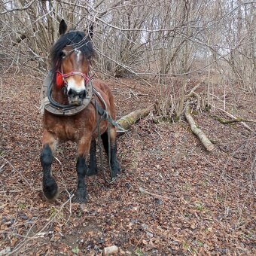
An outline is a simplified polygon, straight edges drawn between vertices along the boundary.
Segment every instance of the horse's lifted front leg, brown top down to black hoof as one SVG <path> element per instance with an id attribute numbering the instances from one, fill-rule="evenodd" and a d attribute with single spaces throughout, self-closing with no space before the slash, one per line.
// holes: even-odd
<path id="1" fill-rule="evenodd" d="M 56 149 L 56 139 L 47 131 L 43 133 L 43 150 L 41 151 L 41 166 L 43 168 L 43 192 L 48 200 L 53 200 L 58 196 L 58 185 L 51 173 L 53 163 L 53 152 Z"/>

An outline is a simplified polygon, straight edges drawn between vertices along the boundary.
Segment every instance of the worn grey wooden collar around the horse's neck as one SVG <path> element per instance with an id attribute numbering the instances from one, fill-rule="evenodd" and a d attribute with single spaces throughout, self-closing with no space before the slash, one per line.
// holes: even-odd
<path id="1" fill-rule="evenodd" d="M 57 108 L 56 106 L 52 105 L 48 99 L 48 90 L 53 83 L 53 72 L 48 72 L 47 77 L 44 79 L 43 87 L 41 88 L 41 113 L 44 113 L 44 110 L 50 112 L 51 114 L 58 115 L 58 116 L 72 116 L 75 114 L 80 113 L 87 105 L 90 104 L 91 100 L 93 99 L 93 84 L 92 81 L 89 80 L 86 86 L 87 97 L 84 99 L 82 105 L 74 106 L 72 108 Z"/>

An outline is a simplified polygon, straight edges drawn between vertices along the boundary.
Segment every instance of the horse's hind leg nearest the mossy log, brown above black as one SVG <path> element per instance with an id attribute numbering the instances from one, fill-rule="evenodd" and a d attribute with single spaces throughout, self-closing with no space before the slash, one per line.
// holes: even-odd
<path id="1" fill-rule="evenodd" d="M 114 126 L 110 127 L 108 139 L 108 131 L 102 134 L 102 142 L 105 152 L 108 156 L 108 161 L 111 166 L 111 178 L 114 179 L 117 175 L 120 175 L 120 165 L 117 160 L 117 142 L 116 142 L 116 131 Z M 110 142 L 110 150 L 108 148 L 108 142 Z M 110 151 L 110 152 L 109 152 Z M 109 155 L 110 153 L 110 155 Z"/>

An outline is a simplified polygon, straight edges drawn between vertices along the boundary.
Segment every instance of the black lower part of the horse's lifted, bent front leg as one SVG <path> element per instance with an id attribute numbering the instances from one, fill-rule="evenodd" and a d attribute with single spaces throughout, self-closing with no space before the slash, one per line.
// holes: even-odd
<path id="1" fill-rule="evenodd" d="M 50 167 L 53 162 L 53 152 L 49 145 L 44 145 L 41 151 L 41 166 L 43 167 L 43 191 L 45 197 L 53 200 L 58 194 L 58 185 L 50 173 Z"/>

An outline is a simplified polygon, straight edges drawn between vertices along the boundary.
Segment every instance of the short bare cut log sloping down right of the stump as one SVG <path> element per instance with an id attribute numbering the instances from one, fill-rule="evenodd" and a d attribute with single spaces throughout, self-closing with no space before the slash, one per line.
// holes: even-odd
<path id="1" fill-rule="evenodd" d="M 187 105 L 185 109 L 185 117 L 187 119 L 187 122 L 190 124 L 192 132 L 197 136 L 198 139 L 200 139 L 200 142 L 203 143 L 204 147 L 207 151 L 212 151 L 215 149 L 215 146 L 212 144 L 212 142 L 207 138 L 206 134 L 203 133 L 200 128 L 198 128 L 197 123 L 194 121 L 193 117 L 190 114 L 190 107 Z"/>

